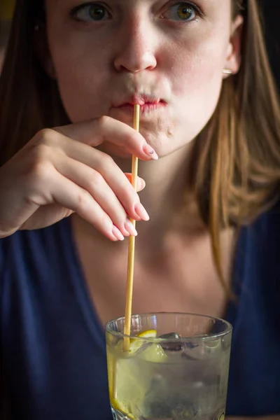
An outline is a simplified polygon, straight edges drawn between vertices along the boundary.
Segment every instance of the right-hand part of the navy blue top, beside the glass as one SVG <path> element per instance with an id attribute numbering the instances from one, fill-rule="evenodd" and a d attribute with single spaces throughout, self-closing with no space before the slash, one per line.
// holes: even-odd
<path id="1" fill-rule="evenodd" d="M 245 415 L 248 410 L 250 416 L 279 413 L 279 400 L 274 398 L 280 392 L 279 279 L 280 203 L 276 203 L 239 235 L 232 285 L 236 300 L 230 302 L 227 314 L 233 325 L 228 415 Z"/>

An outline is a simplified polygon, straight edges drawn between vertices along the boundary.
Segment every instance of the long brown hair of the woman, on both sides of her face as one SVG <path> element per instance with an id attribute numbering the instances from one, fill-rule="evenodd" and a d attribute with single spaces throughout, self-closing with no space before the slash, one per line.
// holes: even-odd
<path id="1" fill-rule="evenodd" d="M 280 113 L 256 0 L 232 0 L 244 15 L 241 69 L 223 82 L 214 116 L 195 142 L 190 188 L 211 235 L 223 281 L 219 233 L 250 223 L 278 198 Z M 0 78 L 0 165 L 38 130 L 69 123 L 54 80 L 34 47 L 43 0 L 18 0 Z"/>

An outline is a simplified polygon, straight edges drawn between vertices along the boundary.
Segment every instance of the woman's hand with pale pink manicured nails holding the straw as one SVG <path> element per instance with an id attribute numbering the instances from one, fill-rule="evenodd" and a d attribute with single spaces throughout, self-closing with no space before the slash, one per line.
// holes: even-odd
<path id="1" fill-rule="evenodd" d="M 0 237 L 73 212 L 112 241 L 136 235 L 128 217 L 147 221 L 148 214 L 130 174 L 94 148 L 104 142 L 141 160 L 158 158 L 141 134 L 109 117 L 42 130 L 0 168 Z"/>

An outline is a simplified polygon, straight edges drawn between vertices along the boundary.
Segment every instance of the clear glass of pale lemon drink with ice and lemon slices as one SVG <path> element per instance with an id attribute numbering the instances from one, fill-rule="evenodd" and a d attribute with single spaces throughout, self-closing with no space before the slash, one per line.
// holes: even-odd
<path id="1" fill-rule="evenodd" d="M 222 419 L 230 325 L 187 314 L 135 317 L 134 321 L 144 322 L 132 322 L 134 336 L 129 351 L 123 350 L 123 335 L 116 330 L 117 325 L 122 330 L 123 319 L 106 328 L 109 393 L 115 419 Z M 171 317 L 176 317 L 176 325 L 170 325 Z M 188 320 L 185 326 L 183 319 Z M 172 326 L 176 333 L 167 333 L 166 328 Z"/>

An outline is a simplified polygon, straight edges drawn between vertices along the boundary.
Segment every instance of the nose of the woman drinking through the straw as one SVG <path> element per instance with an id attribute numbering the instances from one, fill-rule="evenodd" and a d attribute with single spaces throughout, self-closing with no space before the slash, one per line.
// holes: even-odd
<path id="1" fill-rule="evenodd" d="M 157 65 L 155 57 L 155 34 L 145 22 L 130 22 L 121 29 L 118 53 L 114 59 L 117 71 L 138 73 L 153 70 Z"/>

